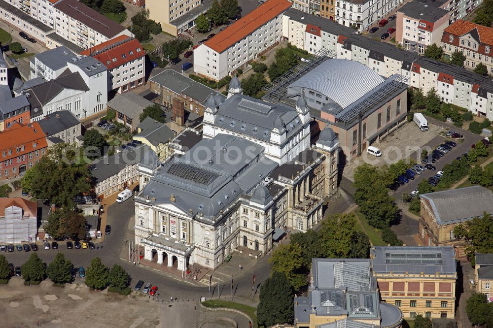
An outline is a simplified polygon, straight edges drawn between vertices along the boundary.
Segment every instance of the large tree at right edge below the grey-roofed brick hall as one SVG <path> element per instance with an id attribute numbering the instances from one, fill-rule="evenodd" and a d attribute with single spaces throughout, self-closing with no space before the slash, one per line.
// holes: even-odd
<path id="1" fill-rule="evenodd" d="M 481 218 L 474 218 L 454 228 L 454 236 L 464 238 L 466 253 L 469 259 L 474 259 L 474 253 L 493 253 L 493 217 L 484 213 Z M 474 265 L 474 264 L 473 264 Z"/>

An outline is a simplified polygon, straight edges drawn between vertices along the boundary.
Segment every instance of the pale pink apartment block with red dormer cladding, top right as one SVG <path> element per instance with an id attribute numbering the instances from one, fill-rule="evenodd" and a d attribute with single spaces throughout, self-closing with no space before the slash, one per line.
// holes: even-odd
<path id="1" fill-rule="evenodd" d="M 448 0 L 414 0 L 397 10 L 395 41 L 420 54 L 430 44 L 440 44 L 443 30 L 449 26 Z"/>

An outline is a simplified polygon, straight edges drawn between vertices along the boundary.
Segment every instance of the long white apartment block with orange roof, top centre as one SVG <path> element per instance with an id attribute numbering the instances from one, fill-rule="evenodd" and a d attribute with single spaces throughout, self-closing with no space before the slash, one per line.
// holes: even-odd
<path id="1" fill-rule="evenodd" d="M 219 81 L 245 67 L 282 37 L 282 14 L 287 0 L 268 0 L 194 50 L 193 69 L 200 76 Z"/>

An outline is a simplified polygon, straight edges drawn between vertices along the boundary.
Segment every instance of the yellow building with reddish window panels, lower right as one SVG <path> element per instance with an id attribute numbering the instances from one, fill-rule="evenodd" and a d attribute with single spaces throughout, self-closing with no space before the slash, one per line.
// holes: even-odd
<path id="1" fill-rule="evenodd" d="M 370 257 L 381 299 L 404 318 L 454 318 L 455 249 L 435 246 L 374 246 Z"/>

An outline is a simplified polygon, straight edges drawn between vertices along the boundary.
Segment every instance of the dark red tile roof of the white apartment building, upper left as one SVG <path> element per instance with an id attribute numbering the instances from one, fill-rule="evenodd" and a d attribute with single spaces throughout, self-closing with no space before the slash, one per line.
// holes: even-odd
<path id="1" fill-rule="evenodd" d="M 140 50 L 138 51 L 137 49 Z M 80 54 L 96 58 L 105 64 L 108 69 L 113 69 L 145 56 L 139 40 L 128 35 L 117 36 L 97 46 L 86 49 Z M 123 58 L 123 55 L 125 55 L 125 58 Z"/>

